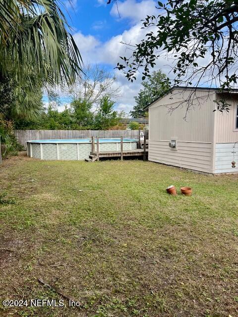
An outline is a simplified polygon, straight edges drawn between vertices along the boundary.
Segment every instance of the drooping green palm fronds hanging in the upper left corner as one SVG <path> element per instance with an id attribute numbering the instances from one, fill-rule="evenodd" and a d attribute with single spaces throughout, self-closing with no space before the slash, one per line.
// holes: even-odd
<path id="1" fill-rule="evenodd" d="M 28 72 L 39 83 L 72 83 L 81 55 L 55 0 L 0 0 L 0 72 L 9 63 L 19 83 Z"/>

